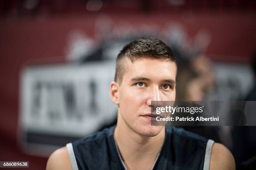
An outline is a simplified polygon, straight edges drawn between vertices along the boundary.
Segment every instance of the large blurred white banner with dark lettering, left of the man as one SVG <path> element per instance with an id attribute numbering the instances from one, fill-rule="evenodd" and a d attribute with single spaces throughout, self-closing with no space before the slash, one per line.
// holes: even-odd
<path id="1" fill-rule="evenodd" d="M 23 149 L 44 155 L 113 123 L 117 106 L 109 85 L 114 74 L 114 62 L 24 68 L 18 134 Z"/>

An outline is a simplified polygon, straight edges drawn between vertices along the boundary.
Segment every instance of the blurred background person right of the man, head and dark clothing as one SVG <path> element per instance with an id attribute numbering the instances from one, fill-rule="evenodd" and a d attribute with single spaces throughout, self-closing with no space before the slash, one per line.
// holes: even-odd
<path id="1" fill-rule="evenodd" d="M 204 101 L 215 87 L 215 73 L 212 62 L 205 55 L 180 62 L 177 75 L 177 101 Z M 182 126 L 185 130 L 221 142 L 216 126 Z"/>

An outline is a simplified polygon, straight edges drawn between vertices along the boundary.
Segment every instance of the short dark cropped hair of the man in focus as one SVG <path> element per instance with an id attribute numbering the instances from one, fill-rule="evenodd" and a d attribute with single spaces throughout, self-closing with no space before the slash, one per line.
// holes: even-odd
<path id="1" fill-rule="evenodd" d="M 116 58 L 115 82 L 119 81 L 121 83 L 123 80 L 125 73 L 125 65 L 122 65 L 121 62 L 123 58 L 128 58 L 131 62 L 143 58 L 155 58 L 159 60 L 169 59 L 175 62 L 172 49 L 163 41 L 154 37 L 142 37 L 125 45 L 119 52 Z"/>

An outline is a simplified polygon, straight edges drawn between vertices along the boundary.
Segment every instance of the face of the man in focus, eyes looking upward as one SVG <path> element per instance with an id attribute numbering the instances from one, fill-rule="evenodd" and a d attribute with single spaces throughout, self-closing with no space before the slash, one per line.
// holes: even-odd
<path id="1" fill-rule="evenodd" d="M 151 114 L 151 101 L 175 100 L 176 64 L 150 58 L 124 63 L 126 70 L 119 87 L 120 118 L 136 133 L 155 136 L 163 126 L 151 126 L 151 117 L 146 115 Z"/>

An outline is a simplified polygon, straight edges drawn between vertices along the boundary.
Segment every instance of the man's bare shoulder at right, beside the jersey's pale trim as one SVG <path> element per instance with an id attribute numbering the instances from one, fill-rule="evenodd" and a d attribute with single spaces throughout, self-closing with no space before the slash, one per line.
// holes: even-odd
<path id="1" fill-rule="evenodd" d="M 235 159 L 224 145 L 214 143 L 210 160 L 210 170 L 235 170 Z"/>

